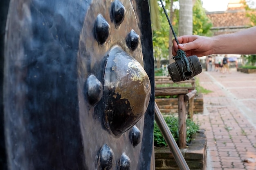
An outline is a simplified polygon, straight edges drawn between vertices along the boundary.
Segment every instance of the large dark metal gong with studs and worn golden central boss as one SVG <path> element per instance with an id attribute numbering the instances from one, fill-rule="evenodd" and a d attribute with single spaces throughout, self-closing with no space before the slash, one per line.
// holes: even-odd
<path id="1" fill-rule="evenodd" d="M 0 8 L 0 169 L 150 169 L 148 2 L 1 0 Z"/>

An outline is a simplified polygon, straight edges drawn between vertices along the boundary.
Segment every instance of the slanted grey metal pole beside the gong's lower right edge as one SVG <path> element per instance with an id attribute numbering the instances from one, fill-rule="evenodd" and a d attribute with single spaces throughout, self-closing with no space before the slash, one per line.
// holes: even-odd
<path id="1" fill-rule="evenodd" d="M 189 166 L 187 165 L 182 153 L 180 152 L 179 147 L 177 146 L 173 135 L 171 134 L 170 129 L 168 128 L 164 117 L 162 116 L 157 104 L 155 103 L 155 121 L 157 122 L 157 125 L 159 129 L 162 132 L 162 135 L 164 136 L 164 139 L 166 143 L 168 144 L 173 157 L 179 166 L 180 170 L 189 170 Z"/>

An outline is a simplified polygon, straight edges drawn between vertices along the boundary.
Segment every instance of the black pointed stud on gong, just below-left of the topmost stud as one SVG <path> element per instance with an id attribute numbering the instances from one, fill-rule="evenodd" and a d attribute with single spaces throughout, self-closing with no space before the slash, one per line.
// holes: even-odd
<path id="1" fill-rule="evenodd" d="M 97 42 L 99 42 L 99 44 L 104 44 L 110 34 L 110 25 L 101 14 L 97 16 L 94 29 Z"/>

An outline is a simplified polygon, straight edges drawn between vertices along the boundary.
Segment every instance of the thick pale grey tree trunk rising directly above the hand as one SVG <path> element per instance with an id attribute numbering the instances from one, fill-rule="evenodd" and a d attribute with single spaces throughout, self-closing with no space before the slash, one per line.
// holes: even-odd
<path id="1" fill-rule="evenodd" d="M 193 34 L 193 0 L 180 0 L 179 36 Z"/>

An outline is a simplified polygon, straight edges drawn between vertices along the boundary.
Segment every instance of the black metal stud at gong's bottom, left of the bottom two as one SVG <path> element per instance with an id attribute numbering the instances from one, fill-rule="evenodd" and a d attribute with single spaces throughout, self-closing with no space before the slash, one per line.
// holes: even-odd
<path id="1" fill-rule="evenodd" d="M 100 153 L 99 153 L 99 169 L 100 170 L 110 170 L 113 165 L 113 158 L 114 153 L 112 149 L 107 145 L 104 144 L 101 147 Z"/>

